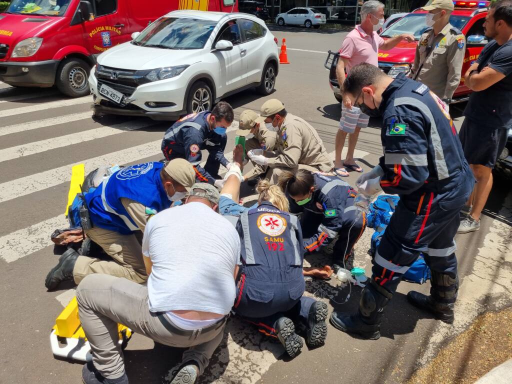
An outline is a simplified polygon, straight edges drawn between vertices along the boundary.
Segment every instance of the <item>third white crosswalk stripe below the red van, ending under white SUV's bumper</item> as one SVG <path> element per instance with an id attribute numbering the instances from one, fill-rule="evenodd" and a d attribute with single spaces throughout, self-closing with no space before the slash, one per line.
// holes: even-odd
<path id="1" fill-rule="evenodd" d="M 112 126 L 100 126 L 96 129 L 60 136 L 58 139 L 51 138 L 35 141 L 29 144 L 16 145 L 5 150 L 0 150 L 0 162 L 16 159 L 18 157 L 34 155 L 72 144 L 118 135 L 125 131 L 135 131 L 154 124 L 155 122 L 151 123 L 145 120 L 133 120 Z"/>

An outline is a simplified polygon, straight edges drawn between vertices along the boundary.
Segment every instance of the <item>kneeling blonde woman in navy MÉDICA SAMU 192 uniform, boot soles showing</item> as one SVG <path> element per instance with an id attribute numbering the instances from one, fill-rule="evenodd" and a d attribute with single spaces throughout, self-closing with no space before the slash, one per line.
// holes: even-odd
<path id="1" fill-rule="evenodd" d="M 272 199 L 280 202 L 276 205 L 281 209 L 262 201 L 243 212 L 237 223 L 242 257 L 233 309 L 260 332 L 277 337 L 294 357 L 303 346 L 295 324 L 306 328 L 308 346 L 324 344 L 327 304 L 303 296 L 300 224 L 287 212 L 288 202 L 277 185 L 271 185 L 266 193 L 281 195 Z"/>

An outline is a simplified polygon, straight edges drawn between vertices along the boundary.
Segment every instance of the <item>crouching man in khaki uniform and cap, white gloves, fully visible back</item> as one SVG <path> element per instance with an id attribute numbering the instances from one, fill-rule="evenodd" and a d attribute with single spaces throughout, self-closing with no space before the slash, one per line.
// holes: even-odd
<path id="1" fill-rule="evenodd" d="M 266 101 L 255 122 L 265 123 L 267 130 L 277 133 L 272 152 L 259 149 L 247 153 L 253 163 L 270 168 L 267 178 L 272 184 L 278 183 L 283 170 L 304 168 L 329 172 L 332 169 L 332 161 L 316 130 L 306 120 L 288 113 L 278 99 Z"/>

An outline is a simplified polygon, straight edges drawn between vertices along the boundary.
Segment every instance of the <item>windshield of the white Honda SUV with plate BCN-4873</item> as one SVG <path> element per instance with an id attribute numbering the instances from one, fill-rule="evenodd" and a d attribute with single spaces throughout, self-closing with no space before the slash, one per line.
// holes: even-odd
<path id="1" fill-rule="evenodd" d="M 202 49 L 216 22 L 184 17 L 162 17 L 144 29 L 132 44 L 164 49 Z"/>

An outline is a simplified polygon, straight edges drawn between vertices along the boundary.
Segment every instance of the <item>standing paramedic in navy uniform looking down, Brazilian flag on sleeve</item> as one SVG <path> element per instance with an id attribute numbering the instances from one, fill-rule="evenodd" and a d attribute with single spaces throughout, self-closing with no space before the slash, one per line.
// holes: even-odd
<path id="1" fill-rule="evenodd" d="M 344 94 L 369 116 L 382 115 L 384 156 L 356 181 L 359 193 L 372 196 L 382 189 L 400 201 L 377 247 L 358 312 L 334 312 L 331 323 L 379 338 L 384 308 L 423 252 L 432 270 L 430 295 L 411 291 L 408 300 L 451 324 L 459 287 L 454 236 L 474 185 L 453 121 L 424 84 L 403 74 L 393 79 L 366 63 L 350 71 Z"/>

